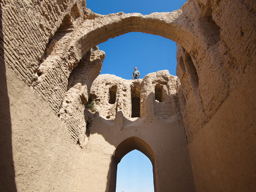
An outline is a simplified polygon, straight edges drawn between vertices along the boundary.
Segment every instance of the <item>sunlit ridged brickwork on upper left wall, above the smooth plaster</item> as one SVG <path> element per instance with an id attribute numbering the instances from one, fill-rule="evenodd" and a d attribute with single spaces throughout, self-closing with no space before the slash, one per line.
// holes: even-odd
<path id="1" fill-rule="evenodd" d="M 81 17 L 73 18 L 73 15 L 84 15 L 82 3 L 2 2 L 5 63 L 15 70 L 27 85 L 34 87 L 48 100 L 56 113 L 62 103 L 70 73 L 67 67 L 63 66 L 65 62 L 62 59 L 76 27 L 82 21 Z M 71 15 L 71 26 L 65 23 L 66 15 Z"/>

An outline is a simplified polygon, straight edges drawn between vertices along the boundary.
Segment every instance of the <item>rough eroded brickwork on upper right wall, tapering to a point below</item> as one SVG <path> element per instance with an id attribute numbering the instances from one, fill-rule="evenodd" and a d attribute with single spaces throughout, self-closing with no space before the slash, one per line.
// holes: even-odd
<path id="1" fill-rule="evenodd" d="M 180 97 L 185 98 L 181 113 L 191 142 L 229 98 L 247 66 L 255 63 L 255 3 L 189 1 L 184 13 L 198 37 L 189 47 L 177 46 Z"/>

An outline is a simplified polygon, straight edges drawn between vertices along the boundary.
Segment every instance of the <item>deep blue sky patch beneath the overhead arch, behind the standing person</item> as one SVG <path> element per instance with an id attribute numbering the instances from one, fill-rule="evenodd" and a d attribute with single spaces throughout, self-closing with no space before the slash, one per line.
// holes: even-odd
<path id="1" fill-rule="evenodd" d="M 106 54 L 101 74 L 132 79 L 136 66 L 140 71 L 140 79 L 146 74 L 166 69 L 176 76 L 177 46 L 167 38 L 130 32 L 99 44 L 99 49 Z"/>

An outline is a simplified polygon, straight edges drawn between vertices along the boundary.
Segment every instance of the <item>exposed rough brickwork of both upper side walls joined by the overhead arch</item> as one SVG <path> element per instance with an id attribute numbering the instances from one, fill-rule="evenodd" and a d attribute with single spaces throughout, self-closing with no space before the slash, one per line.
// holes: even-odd
<path id="1" fill-rule="evenodd" d="M 4 1 L 2 12 L 5 63 L 56 114 L 68 89 L 69 74 L 97 44 L 132 31 L 181 44 L 177 75 L 185 94 L 182 116 L 191 140 L 229 97 L 239 81 L 236 76 L 255 60 L 255 38 L 251 38 L 255 30 L 249 27 L 255 23 L 255 4 L 251 1 L 195 0 L 172 13 L 146 16 L 98 15 L 86 9 L 85 1 Z M 241 47 L 237 41 L 243 42 Z M 193 69 L 186 63 L 192 63 Z M 197 113 L 185 114 L 191 110 Z"/>

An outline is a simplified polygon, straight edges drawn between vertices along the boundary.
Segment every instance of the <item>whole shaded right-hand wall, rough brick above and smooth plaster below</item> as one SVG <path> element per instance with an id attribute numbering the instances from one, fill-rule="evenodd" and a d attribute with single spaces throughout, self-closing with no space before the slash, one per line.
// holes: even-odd
<path id="1" fill-rule="evenodd" d="M 196 191 L 254 191 L 255 2 L 190 1 L 187 8 L 208 43 L 206 50 L 177 45 L 180 112 Z"/>

